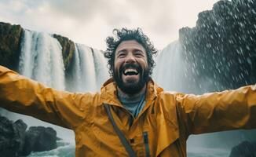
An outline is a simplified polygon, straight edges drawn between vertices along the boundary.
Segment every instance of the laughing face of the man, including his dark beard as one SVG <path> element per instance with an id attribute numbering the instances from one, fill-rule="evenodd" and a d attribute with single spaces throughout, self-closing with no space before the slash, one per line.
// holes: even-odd
<path id="1" fill-rule="evenodd" d="M 114 79 L 124 93 L 138 93 L 149 78 L 147 54 L 135 40 L 124 41 L 115 51 Z"/>

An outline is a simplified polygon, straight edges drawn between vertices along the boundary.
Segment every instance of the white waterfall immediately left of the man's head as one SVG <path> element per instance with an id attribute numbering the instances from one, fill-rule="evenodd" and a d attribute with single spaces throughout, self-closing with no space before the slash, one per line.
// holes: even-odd
<path id="1" fill-rule="evenodd" d="M 82 44 L 75 44 L 74 64 L 67 79 L 71 92 L 96 92 L 108 79 L 107 60 L 103 52 Z"/>

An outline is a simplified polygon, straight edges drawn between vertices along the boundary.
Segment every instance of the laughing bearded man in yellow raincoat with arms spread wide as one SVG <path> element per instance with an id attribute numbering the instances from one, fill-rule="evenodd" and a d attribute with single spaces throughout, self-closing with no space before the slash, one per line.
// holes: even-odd
<path id="1" fill-rule="evenodd" d="M 148 37 L 114 32 L 105 52 L 113 77 L 100 93 L 57 91 L 0 67 L 2 107 L 74 130 L 76 156 L 186 156 L 192 133 L 256 128 L 256 86 L 163 91 L 150 78 L 156 50 Z"/>

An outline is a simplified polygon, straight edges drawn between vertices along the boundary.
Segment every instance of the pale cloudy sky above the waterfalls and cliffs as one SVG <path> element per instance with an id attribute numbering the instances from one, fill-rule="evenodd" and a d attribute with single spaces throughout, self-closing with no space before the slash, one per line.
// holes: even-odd
<path id="1" fill-rule="evenodd" d="M 218 0 L 0 0 L 0 21 L 32 31 L 63 35 L 106 49 L 114 28 L 137 28 L 163 49 L 181 27 L 194 27 L 198 13 Z"/>

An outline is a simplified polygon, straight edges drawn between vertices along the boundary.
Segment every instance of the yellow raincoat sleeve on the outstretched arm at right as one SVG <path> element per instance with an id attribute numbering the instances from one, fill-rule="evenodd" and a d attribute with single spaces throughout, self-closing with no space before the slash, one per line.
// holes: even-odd
<path id="1" fill-rule="evenodd" d="M 187 135 L 256 128 L 256 86 L 205 93 L 177 95 L 178 120 Z"/>

